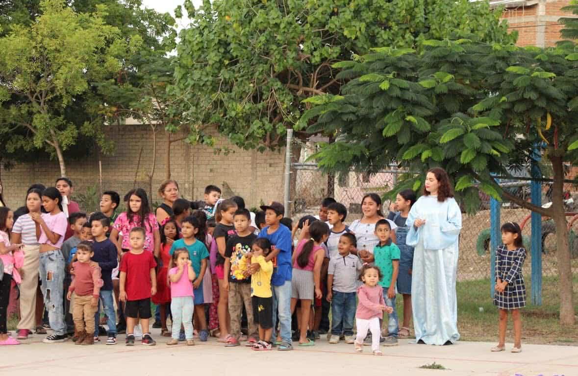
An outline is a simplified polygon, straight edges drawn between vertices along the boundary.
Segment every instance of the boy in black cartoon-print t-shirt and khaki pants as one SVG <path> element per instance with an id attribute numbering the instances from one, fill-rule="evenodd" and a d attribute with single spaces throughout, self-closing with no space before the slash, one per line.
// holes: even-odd
<path id="1" fill-rule="evenodd" d="M 247 312 L 247 324 L 249 326 L 249 343 L 258 340 L 257 326 L 253 320 L 253 305 L 251 304 L 251 276 L 246 271 L 250 262 L 246 255 L 251 252 L 251 244 L 257 236 L 251 232 L 251 214 L 247 209 L 239 209 L 234 217 L 237 234 L 231 236 L 225 248 L 225 278 L 223 285 L 229 291 L 229 314 L 231 315 L 232 339 L 226 347 L 239 346 L 241 336 L 241 315 L 243 303 Z"/>

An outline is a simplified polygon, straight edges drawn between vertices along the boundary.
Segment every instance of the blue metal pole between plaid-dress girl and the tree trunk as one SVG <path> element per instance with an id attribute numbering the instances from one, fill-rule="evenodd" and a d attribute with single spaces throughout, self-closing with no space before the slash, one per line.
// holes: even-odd
<path id="1" fill-rule="evenodd" d="M 540 149 L 536 146 L 532 152 L 532 177 L 542 177 L 542 171 L 538 166 L 540 161 Z M 532 204 L 542 206 L 542 183 L 532 180 L 530 183 Z M 542 305 L 542 215 L 532 212 L 531 214 L 531 254 L 532 254 L 532 291 L 531 302 L 535 306 Z"/>

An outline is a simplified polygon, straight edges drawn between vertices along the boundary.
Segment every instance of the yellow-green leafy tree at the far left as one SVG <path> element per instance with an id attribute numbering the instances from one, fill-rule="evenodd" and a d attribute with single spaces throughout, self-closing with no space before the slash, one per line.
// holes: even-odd
<path id="1" fill-rule="evenodd" d="M 92 81 L 117 72 L 121 62 L 140 44 L 140 38 L 121 39 L 117 28 L 106 25 L 105 6 L 97 12 L 75 13 L 58 0 L 40 3 L 42 15 L 31 25 L 11 25 L 0 38 L 0 132 L 25 129 L 31 137 L 14 134 L 6 146 L 42 148 L 58 158 L 66 174 L 64 151 L 80 132 L 100 133 L 100 122 L 77 126 L 67 110 Z M 103 140 L 104 137 L 96 137 Z"/>

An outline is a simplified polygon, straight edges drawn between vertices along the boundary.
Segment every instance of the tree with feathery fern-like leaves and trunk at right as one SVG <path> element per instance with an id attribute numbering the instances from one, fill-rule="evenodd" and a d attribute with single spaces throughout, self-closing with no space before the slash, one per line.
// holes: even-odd
<path id="1" fill-rule="evenodd" d="M 427 40 L 425 51 L 383 47 L 340 62 L 352 79 L 342 95 L 307 99 L 315 106 L 301 124 L 338 134 L 314 155 L 325 170 L 376 172 L 388 163 L 418 172 L 400 189 L 418 190 L 428 169 L 453 178 L 458 199 L 479 209 L 478 190 L 553 218 L 560 271 L 560 321 L 575 321 L 572 269 L 564 213 L 564 165 L 578 163 L 578 54 L 560 48 Z M 527 167 L 540 147 L 553 170 L 552 205 L 535 206 L 495 176 Z"/>

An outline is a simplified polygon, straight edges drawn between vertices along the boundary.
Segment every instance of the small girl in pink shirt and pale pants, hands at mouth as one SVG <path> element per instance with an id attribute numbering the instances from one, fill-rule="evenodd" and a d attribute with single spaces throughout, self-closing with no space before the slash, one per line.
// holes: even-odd
<path id="1" fill-rule="evenodd" d="M 184 326 L 187 346 L 194 346 L 192 340 L 192 312 L 194 310 L 194 293 L 192 281 L 197 275 L 192 269 L 191 260 L 188 258 L 187 248 L 177 248 L 173 253 L 173 267 L 169 270 L 171 281 L 171 314 L 173 316 L 173 329 L 171 341 L 167 345 L 179 344 L 179 332 L 181 323 Z"/>

